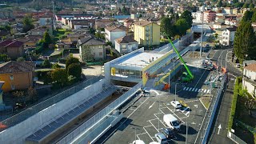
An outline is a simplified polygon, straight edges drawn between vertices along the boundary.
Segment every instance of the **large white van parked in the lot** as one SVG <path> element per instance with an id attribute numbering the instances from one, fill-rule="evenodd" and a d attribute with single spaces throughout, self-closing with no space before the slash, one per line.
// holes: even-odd
<path id="1" fill-rule="evenodd" d="M 173 130 L 179 130 L 181 125 L 177 118 L 175 118 L 172 114 L 165 114 L 163 116 L 163 122 L 166 123 L 166 126 L 170 127 Z"/>

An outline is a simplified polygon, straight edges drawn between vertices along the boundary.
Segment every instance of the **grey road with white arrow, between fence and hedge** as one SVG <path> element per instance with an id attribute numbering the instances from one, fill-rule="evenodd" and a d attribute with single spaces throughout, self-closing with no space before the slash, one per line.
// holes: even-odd
<path id="1" fill-rule="evenodd" d="M 228 52 L 230 50 L 217 50 L 212 59 L 217 60 L 218 64 L 222 67 L 226 67 L 228 71 L 228 78 L 230 80 L 227 82 L 225 87 L 225 91 L 221 96 L 221 104 L 219 105 L 217 116 L 214 120 L 214 127 L 210 132 L 210 138 L 208 143 L 234 143 L 227 138 L 227 127 L 230 117 L 230 108 L 231 102 L 233 98 L 233 90 L 234 90 L 234 76 L 241 76 L 242 71 L 238 70 L 238 68 L 234 67 L 234 65 L 230 62 L 231 53 Z M 228 54 L 228 57 L 226 56 Z M 227 61 L 226 61 L 227 58 Z"/>

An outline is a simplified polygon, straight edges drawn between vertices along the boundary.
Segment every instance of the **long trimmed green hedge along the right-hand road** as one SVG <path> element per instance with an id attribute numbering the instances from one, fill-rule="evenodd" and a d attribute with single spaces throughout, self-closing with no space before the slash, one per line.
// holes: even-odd
<path id="1" fill-rule="evenodd" d="M 239 83 L 240 82 L 242 82 L 242 78 L 241 77 L 236 78 L 235 84 L 234 84 L 234 94 L 233 94 L 231 110 L 230 110 L 230 120 L 229 120 L 229 123 L 228 123 L 228 130 L 229 131 L 232 129 L 233 120 L 235 118 L 235 110 L 236 110 L 237 102 L 238 102 Z"/>

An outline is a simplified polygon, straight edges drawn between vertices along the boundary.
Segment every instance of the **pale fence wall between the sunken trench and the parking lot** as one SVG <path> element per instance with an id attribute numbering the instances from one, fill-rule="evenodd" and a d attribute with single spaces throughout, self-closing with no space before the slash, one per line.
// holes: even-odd
<path id="1" fill-rule="evenodd" d="M 102 120 L 102 118 L 105 118 L 106 115 L 110 114 L 113 110 L 117 109 L 119 106 L 122 106 L 122 104 L 126 102 L 130 97 L 132 97 L 138 90 L 140 90 L 141 87 L 142 82 L 139 82 L 136 86 L 128 90 L 125 94 L 122 94 L 122 96 L 116 99 L 114 102 L 111 102 L 110 105 L 106 106 L 104 109 L 99 111 L 97 114 L 95 114 L 88 121 L 84 122 L 77 129 L 73 130 L 70 134 L 66 135 L 65 138 L 62 138 L 62 140 L 60 140 L 58 144 L 70 143 L 74 140 L 74 138 L 81 139 L 82 137 L 80 138 L 79 135 L 84 133 L 86 130 L 89 130 L 92 126 L 96 125 L 98 122 Z M 93 139 L 88 139 L 88 142 L 91 142 L 92 140 Z M 82 141 L 84 142 L 84 140 Z"/>

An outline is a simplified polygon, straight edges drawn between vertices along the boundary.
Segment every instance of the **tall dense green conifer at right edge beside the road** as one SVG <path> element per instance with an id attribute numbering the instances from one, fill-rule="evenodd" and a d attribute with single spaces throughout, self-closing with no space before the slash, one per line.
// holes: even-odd
<path id="1" fill-rule="evenodd" d="M 255 46 L 256 37 L 251 22 L 241 22 L 234 37 L 234 54 L 240 62 L 245 59 L 255 59 Z"/>

